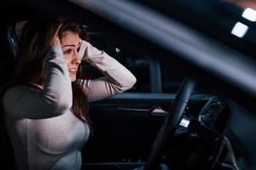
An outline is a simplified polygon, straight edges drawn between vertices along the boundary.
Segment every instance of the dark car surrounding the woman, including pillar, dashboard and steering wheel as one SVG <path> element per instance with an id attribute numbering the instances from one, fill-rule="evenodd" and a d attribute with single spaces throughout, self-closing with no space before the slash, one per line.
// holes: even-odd
<path id="1" fill-rule="evenodd" d="M 82 150 L 82 169 L 256 167 L 255 40 L 231 37 L 224 30 L 224 23 L 233 24 L 231 19 L 236 18 L 241 8 L 217 0 L 200 0 L 201 5 L 193 1 L 95 1 L 85 5 L 84 2 L 4 1 L 3 8 L 17 14 L 2 15 L 0 26 L 0 86 L 14 69 L 19 49 L 17 24 L 42 17 L 83 23 L 90 42 L 137 77 L 135 86 L 124 94 L 90 104 L 93 132 Z M 223 6 L 218 11 L 220 5 Z M 137 31 L 142 26 L 139 21 L 126 20 L 125 15 L 118 13 L 118 9 L 123 9 L 124 14 L 136 16 L 134 8 L 141 9 L 137 17 L 146 23 L 144 32 Z M 170 9 L 172 12 L 167 13 Z M 180 12 L 183 10 L 187 13 Z M 159 12 L 167 18 L 161 18 Z M 214 12 L 215 17 L 211 15 Z M 154 25 L 150 25 L 148 18 L 139 18 L 143 14 L 152 20 L 162 19 L 162 32 L 151 31 L 150 26 Z M 220 24 L 214 20 L 220 20 Z M 203 22 L 207 24 L 200 24 Z M 173 27 L 165 30 L 164 26 Z M 201 58 L 193 58 L 195 55 Z M 82 63 L 82 68 L 81 78 L 102 76 L 86 63 Z M 253 84 L 248 85 L 245 78 Z M 3 164 L 15 169 L 11 145 L 6 143 L 9 141 L 1 140 Z"/>

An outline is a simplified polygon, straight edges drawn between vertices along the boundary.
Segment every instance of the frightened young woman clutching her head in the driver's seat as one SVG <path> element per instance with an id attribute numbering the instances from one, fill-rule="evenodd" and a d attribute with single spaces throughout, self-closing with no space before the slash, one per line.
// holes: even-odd
<path id="1" fill-rule="evenodd" d="M 2 96 L 18 169 L 80 169 L 90 134 L 88 103 L 122 93 L 136 82 L 87 38 L 83 26 L 73 22 L 26 22 L 14 76 Z M 79 80 L 81 60 L 105 76 Z"/>

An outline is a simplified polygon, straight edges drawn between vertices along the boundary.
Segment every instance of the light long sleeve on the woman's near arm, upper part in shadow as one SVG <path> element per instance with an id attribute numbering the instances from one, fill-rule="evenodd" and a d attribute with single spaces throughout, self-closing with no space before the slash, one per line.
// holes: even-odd
<path id="1" fill-rule="evenodd" d="M 4 95 L 4 110 L 13 118 L 47 118 L 61 115 L 72 106 L 72 87 L 60 46 L 49 48 L 44 57 L 43 92 L 28 86 L 9 88 Z"/>

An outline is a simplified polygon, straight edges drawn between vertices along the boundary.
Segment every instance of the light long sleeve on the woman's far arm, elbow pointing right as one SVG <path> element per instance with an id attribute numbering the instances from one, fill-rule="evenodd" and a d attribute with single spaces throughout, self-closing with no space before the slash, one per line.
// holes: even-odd
<path id="1" fill-rule="evenodd" d="M 104 77 L 95 80 L 79 80 L 90 102 L 123 93 L 137 81 L 136 77 L 124 65 L 121 65 L 102 50 L 93 47 L 90 42 L 82 42 L 79 55 L 90 65 L 102 71 L 104 75 Z"/>

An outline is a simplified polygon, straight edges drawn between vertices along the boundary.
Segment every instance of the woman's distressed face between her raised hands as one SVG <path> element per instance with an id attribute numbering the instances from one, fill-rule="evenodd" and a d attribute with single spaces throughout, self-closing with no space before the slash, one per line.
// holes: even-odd
<path id="1" fill-rule="evenodd" d="M 76 74 L 81 63 L 79 57 L 81 42 L 82 40 L 79 38 L 79 34 L 74 33 L 73 31 L 65 31 L 61 37 L 62 53 L 67 62 L 67 68 L 72 82 L 77 79 Z"/>

